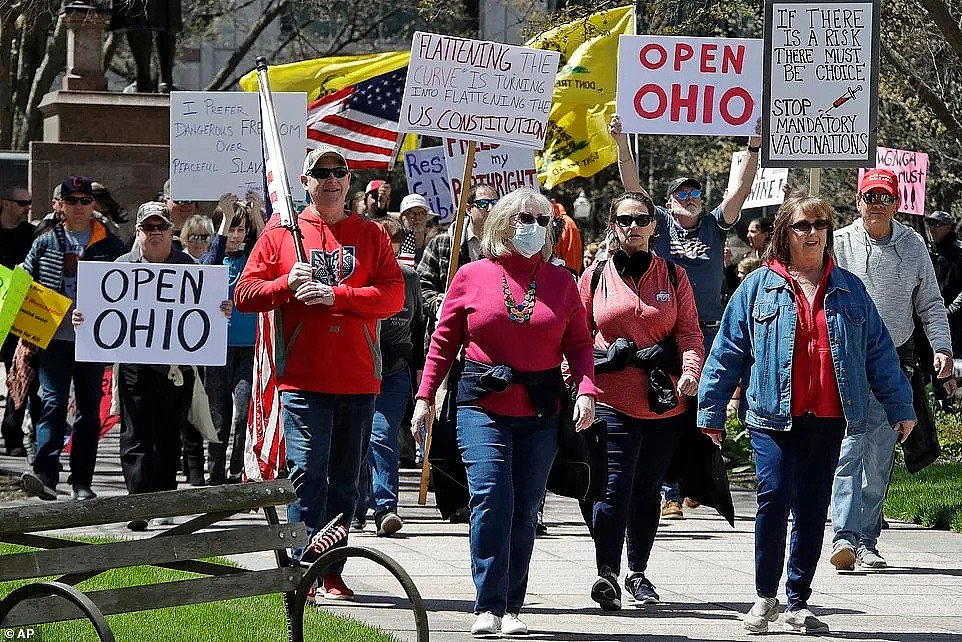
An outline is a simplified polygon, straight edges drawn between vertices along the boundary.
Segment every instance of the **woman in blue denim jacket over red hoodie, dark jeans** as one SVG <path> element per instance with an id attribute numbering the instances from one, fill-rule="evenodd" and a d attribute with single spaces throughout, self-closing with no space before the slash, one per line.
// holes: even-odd
<path id="1" fill-rule="evenodd" d="M 792 196 L 775 217 L 763 266 L 735 291 L 698 389 L 698 425 L 721 443 L 725 406 L 739 382 L 758 477 L 753 633 L 778 619 L 789 511 L 787 630 L 828 632 L 808 608 L 845 430 L 864 430 L 868 391 L 904 440 L 915 425 L 912 390 L 878 310 L 832 260 L 834 212 Z"/>

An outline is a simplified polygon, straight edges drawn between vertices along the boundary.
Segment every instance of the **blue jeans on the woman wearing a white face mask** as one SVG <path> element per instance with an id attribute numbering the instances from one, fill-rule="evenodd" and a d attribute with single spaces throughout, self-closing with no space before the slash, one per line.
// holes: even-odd
<path id="1" fill-rule="evenodd" d="M 502 417 L 458 408 L 471 500 L 475 613 L 517 613 L 528 588 L 538 506 L 558 452 L 558 417 Z"/>

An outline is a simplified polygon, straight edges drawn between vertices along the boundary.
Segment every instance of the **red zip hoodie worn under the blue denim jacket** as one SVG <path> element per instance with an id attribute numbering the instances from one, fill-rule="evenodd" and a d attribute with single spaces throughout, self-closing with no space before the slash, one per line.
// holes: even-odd
<path id="1" fill-rule="evenodd" d="M 778 259 L 767 265 L 775 274 L 788 281 L 795 295 L 798 321 L 795 323 L 795 350 L 792 353 L 792 416 L 812 413 L 816 417 L 843 417 L 842 397 L 835 378 L 832 346 L 829 344 L 828 322 L 825 319 L 825 290 L 828 275 L 835 267 L 832 257 L 825 261 L 825 272 L 815 289 L 812 305 L 808 304 L 802 286 Z"/>

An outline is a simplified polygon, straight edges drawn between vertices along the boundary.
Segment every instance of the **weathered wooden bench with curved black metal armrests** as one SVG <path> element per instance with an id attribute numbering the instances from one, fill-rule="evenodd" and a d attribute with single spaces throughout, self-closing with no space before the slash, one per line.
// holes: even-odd
<path id="1" fill-rule="evenodd" d="M 307 544 L 303 524 L 282 524 L 277 506 L 295 498 L 289 480 L 190 488 L 0 508 L 0 541 L 44 550 L 0 556 L 0 581 L 57 576 L 27 584 L 0 600 L 0 628 L 86 618 L 100 639 L 114 640 L 105 615 L 282 593 L 288 639 L 303 640 L 309 588 L 323 570 L 347 557 L 364 557 L 401 583 L 415 613 L 418 642 L 427 642 L 427 615 L 410 576 L 390 557 L 357 547 L 331 549 L 310 566 L 294 566 L 287 550 Z M 232 515 L 263 510 L 266 524 L 209 529 Z M 147 539 L 88 543 L 38 534 L 131 520 L 191 515 Z M 199 532 L 202 531 L 203 532 Z M 277 568 L 252 571 L 202 558 L 273 551 Z M 202 577 L 85 594 L 79 582 L 113 568 L 157 566 Z M 282 639 L 278 635 L 278 639 Z"/>

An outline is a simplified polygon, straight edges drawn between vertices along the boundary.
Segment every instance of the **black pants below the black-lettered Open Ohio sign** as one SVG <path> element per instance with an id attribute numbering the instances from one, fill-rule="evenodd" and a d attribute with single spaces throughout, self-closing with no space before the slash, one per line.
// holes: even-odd
<path id="1" fill-rule="evenodd" d="M 120 365 L 120 463 L 132 495 L 177 488 L 180 433 L 194 389 L 193 370 L 182 372 L 184 384 L 175 386 L 166 369 Z"/>

